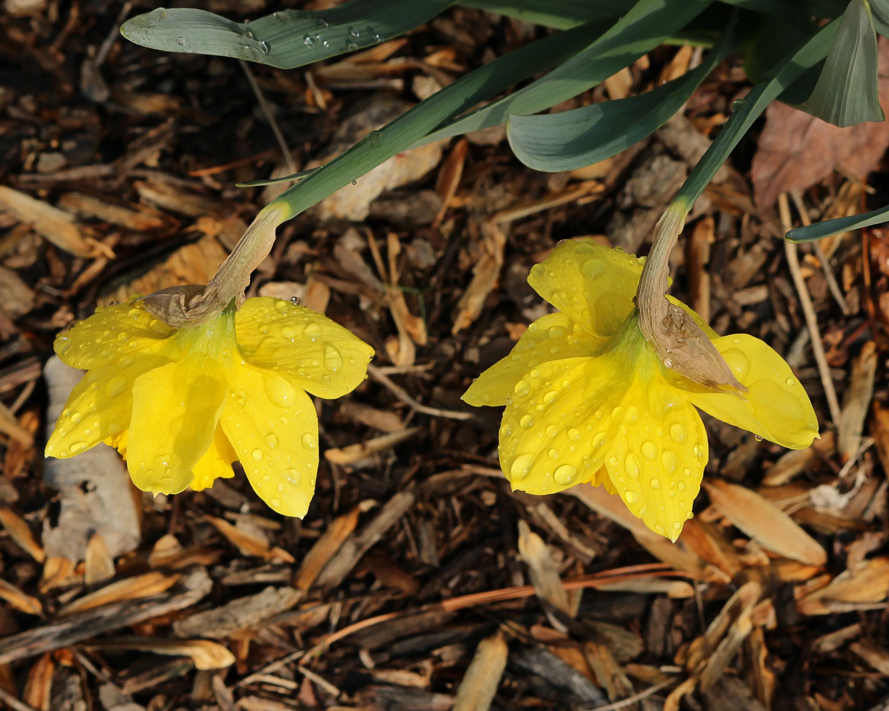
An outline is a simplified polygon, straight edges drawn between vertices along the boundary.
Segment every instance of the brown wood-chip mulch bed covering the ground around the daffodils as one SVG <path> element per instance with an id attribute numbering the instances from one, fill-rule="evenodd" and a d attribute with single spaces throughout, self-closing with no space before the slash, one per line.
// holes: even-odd
<path id="1" fill-rule="evenodd" d="M 770 108 L 693 212 L 673 292 L 717 332 L 752 333 L 785 356 L 822 437 L 789 452 L 705 416 L 708 487 L 677 546 L 587 485 L 510 491 L 500 411 L 460 396 L 547 313 L 525 277 L 559 240 L 647 251 L 749 87 L 738 61 L 684 116 L 604 164 L 533 172 L 492 129 L 399 156 L 287 223 L 251 294 L 299 298 L 377 357 L 354 393 L 318 401 L 315 499 L 304 520 L 284 519 L 241 472 L 153 499 L 107 448 L 44 459 L 76 382 L 51 359 L 55 334 L 133 292 L 205 283 L 276 195 L 236 182 L 292 170 L 269 121 L 292 165 L 311 167 L 543 30 L 458 7 L 360 61 L 251 65 L 269 114 L 235 60 L 120 38 L 119 22 L 147 8 L 5 7 L 0 704 L 889 707 L 889 233 L 793 248 L 798 267 L 781 240 L 887 202 L 878 124 L 850 148 L 851 134 Z M 696 60 L 661 47 L 558 108 L 645 91 Z M 829 160 L 805 143 L 826 133 Z"/>

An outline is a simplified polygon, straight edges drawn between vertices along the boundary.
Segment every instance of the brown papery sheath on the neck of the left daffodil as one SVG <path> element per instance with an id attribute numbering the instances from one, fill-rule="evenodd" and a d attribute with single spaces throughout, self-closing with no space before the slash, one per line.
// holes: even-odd
<path id="1" fill-rule="evenodd" d="M 280 201 L 268 204 L 206 286 L 188 284 L 154 292 L 145 298 L 145 309 L 164 324 L 181 328 L 205 324 L 232 302 L 240 308 L 250 275 L 275 244 L 275 229 L 291 216 L 287 204 Z"/>

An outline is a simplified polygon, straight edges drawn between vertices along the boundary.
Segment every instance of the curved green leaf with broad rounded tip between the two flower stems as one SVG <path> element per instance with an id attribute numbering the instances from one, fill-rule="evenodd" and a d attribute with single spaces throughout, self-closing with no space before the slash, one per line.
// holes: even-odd
<path id="1" fill-rule="evenodd" d="M 650 92 L 560 114 L 510 116 L 509 145 L 537 171 L 571 171 L 620 153 L 673 116 L 736 44 L 736 18 L 701 66 Z"/>

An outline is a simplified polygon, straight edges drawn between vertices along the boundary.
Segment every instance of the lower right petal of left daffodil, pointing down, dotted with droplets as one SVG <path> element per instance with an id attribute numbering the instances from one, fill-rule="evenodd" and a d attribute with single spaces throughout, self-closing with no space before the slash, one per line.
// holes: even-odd
<path id="1" fill-rule="evenodd" d="M 231 373 L 222 429 L 244 472 L 277 513 L 302 518 L 315 491 L 318 420 L 298 380 L 251 365 Z"/>

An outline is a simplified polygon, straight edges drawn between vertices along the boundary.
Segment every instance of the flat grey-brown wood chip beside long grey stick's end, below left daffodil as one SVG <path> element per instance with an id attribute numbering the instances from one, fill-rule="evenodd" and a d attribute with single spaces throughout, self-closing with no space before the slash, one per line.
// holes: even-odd
<path id="1" fill-rule="evenodd" d="M 295 587 L 267 587 L 261 593 L 238 597 L 214 610 L 177 619 L 172 629 L 178 637 L 225 637 L 290 610 L 303 597 L 303 592 Z"/>

